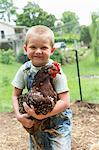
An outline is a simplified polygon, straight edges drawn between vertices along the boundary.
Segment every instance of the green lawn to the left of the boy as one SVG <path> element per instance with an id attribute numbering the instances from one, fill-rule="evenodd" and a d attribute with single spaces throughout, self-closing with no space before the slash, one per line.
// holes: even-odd
<path id="1" fill-rule="evenodd" d="M 0 111 L 8 112 L 12 110 L 12 85 L 11 81 L 21 64 L 0 63 Z"/>

